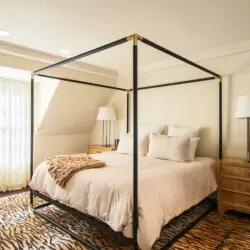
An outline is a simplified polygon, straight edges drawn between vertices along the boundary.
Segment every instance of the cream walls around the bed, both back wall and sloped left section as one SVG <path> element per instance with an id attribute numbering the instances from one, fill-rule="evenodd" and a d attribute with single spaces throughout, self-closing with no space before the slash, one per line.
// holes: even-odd
<path id="1" fill-rule="evenodd" d="M 244 157 L 246 126 L 244 120 L 234 120 L 237 97 L 250 95 L 250 53 L 236 53 L 200 62 L 223 75 L 223 148 L 225 155 Z M 0 55 L 4 66 L 34 70 L 44 63 L 10 55 Z M 115 85 L 113 77 L 66 69 L 53 72 L 62 77 Z M 179 65 L 139 74 L 140 86 L 204 77 L 202 72 Z M 118 86 L 131 88 L 131 75 L 120 76 Z M 98 108 L 111 105 L 117 122 L 112 139 L 126 130 L 126 93 L 61 82 L 55 89 L 36 135 L 36 164 L 53 154 L 87 150 L 88 143 L 101 143 L 101 122 L 96 122 Z M 45 91 L 46 92 L 46 91 Z M 65 99 L 66 98 L 66 99 Z M 218 148 L 218 83 L 209 81 L 145 90 L 139 93 L 140 124 L 177 124 L 200 126 L 201 143 L 198 154 L 217 157 Z M 132 114 L 132 112 L 130 112 Z M 132 123 L 132 119 L 131 119 Z M 49 145 L 49 146 L 48 146 Z"/>

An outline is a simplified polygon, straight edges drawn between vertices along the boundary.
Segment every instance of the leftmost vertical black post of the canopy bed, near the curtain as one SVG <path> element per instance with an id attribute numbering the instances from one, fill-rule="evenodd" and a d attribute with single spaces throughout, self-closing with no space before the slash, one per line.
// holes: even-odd
<path id="1" fill-rule="evenodd" d="M 31 74 L 31 87 L 30 87 L 30 180 L 33 176 L 34 166 L 34 77 Z M 33 209 L 34 199 L 33 192 L 30 190 L 30 208 Z"/>

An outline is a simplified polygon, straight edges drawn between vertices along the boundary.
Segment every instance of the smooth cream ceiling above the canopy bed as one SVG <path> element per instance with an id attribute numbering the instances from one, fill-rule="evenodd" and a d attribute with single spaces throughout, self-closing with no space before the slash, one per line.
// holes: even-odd
<path id="1" fill-rule="evenodd" d="M 5 40 L 69 56 L 138 33 L 183 56 L 250 40 L 250 0 L 0 0 Z M 83 61 L 113 69 L 131 65 L 131 44 Z M 141 65 L 167 59 L 139 48 Z"/>

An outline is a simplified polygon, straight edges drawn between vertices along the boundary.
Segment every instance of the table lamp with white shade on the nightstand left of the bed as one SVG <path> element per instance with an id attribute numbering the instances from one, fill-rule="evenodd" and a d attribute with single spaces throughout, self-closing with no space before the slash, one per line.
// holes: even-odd
<path id="1" fill-rule="evenodd" d="M 102 146 L 111 146 L 111 121 L 116 120 L 115 110 L 112 107 L 100 107 L 97 120 L 102 121 Z"/>

